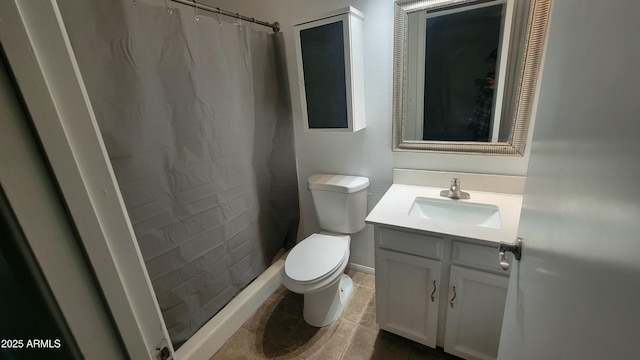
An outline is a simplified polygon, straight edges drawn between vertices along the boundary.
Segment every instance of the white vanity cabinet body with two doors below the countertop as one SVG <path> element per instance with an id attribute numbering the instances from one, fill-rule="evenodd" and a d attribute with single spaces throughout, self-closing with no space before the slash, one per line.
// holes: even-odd
<path id="1" fill-rule="evenodd" d="M 509 273 L 496 246 L 375 225 L 381 329 L 464 359 L 495 359 Z"/>

